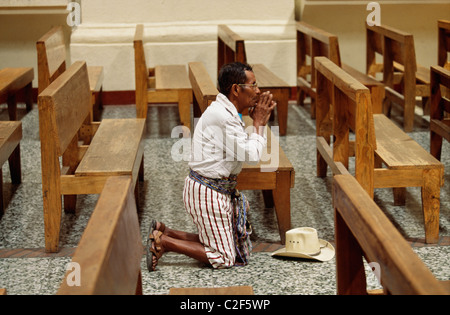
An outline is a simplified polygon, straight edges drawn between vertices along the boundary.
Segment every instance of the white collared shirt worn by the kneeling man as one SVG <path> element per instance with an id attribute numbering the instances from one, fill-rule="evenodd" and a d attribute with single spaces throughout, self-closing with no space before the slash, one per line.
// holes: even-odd
<path id="1" fill-rule="evenodd" d="M 195 127 L 189 167 L 202 176 L 224 178 L 238 175 L 245 163 L 257 164 L 267 139 L 253 126 L 249 133 L 236 107 L 228 98 L 217 98 L 205 110 Z"/>

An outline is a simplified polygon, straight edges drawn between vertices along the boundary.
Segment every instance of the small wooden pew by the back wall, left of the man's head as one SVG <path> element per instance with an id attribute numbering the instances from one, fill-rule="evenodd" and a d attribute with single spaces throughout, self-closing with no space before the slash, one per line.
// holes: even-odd
<path id="1" fill-rule="evenodd" d="M 148 104 L 177 103 L 181 124 L 191 129 L 192 88 L 185 65 L 148 68 L 144 50 L 144 25 L 136 26 L 134 62 L 136 115 L 147 118 Z"/>

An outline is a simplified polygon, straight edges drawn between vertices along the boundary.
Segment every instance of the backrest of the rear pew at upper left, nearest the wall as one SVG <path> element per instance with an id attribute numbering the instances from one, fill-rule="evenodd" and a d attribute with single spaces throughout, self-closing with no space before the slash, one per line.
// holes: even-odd
<path id="1" fill-rule="evenodd" d="M 62 26 L 55 26 L 36 42 L 38 93 L 66 70 L 66 43 Z"/>

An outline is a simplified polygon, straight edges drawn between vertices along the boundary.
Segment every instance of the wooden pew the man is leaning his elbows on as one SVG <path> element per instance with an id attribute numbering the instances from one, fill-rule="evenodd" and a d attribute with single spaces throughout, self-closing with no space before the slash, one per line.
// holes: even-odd
<path id="1" fill-rule="evenodd" d="M 191 78 L 194 98 L 203 112 L 211 100 L 215 100 L 219 91 L 215 88 L 205 67 L 198 62 L 189 63 L 189 77 Z M 201 83 L 201 84 L 199 84 Z M 246 126 L 252 126 L 249 116 L 244 116 Z M 267 150 L 263 153 L 261 162 L 257 165 L 244 164 L 238 176 L 239 190 L 263 190 L 267 205 L 275 206 L 278 219 L 278 230 L 282 244 L 285 243 L 286 231 L 291 228 L 291 188 L 295 183 L 295 171 L 289 159 L 281 148 L 278 139 L 269 127 L 267 132 Z M 273 160 L 273 155 L 278 150 Z M 270 152 L 270 154 L 268 153 Z M 273 165 L 277 162 L 276 165 Z M 273 199 L 272 199 L 273 198 Z M 273 203 L 273 204 L 272 204 Z"/>

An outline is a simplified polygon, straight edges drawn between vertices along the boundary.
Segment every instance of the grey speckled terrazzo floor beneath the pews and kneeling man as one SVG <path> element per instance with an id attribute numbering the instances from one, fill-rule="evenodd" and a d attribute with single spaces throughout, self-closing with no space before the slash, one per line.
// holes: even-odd
<path id="1" fill-rule="evenodd" d="M 4 105 L 3 105 L 4 106 Z M 0 119 L 6 119 L 2 107 Z M 0 288 L 9 295 L 55 294 L 70 262 L 70 254 L 83 233 L 95 207 L 98 196 L 78 198 L 77 212 L 63 214 L 60 255 L 43 254 L 44 228 L 41 195 L 40 145 L 38 111 L 25 113 L 19 109 L 23 122 L 22 171 L 23 182 L 10 184 L 8 166 L 3 166 L 6 213 L 0 220 Z M 135 117 L 134 106 L 106 106 L 103 118 Z M 394 120 L 397 117 L 394 114 Z M 399 122 L 399 121 L 398 121 Z M 171 148 L 178 139 L 171 138 L 178 124 L 175 106 L 149 108 L 145 149 L 145 182 L 141 187 L 141 212 L 139 220 L 143 240 L 151 219 L 156 218 L 174 229 L 195 232 L 184 211 L 181 199 L 184 177 L 188 172 L 186 162 L 174 162 Z M 428 122 L 416 116 L 416 126 L 410 135 L 426 150 L 429 149 Z M 334 217 L 331 206 L 331 176 L 315 176 L 315 122 L 307 109 L 295 103 L 289 105 L 288 132 L 280 144 L 296 172 L 295 188 L 291 190 L 292 227 L 311 226 L 319 237 L 333 242 Z M 450 167 L 450 145 L 444 143 L 443 163 Z M 164 178 L 164 180 L 161 180 Z M 378 189 L 375 201 L 392 220 L 413 250 L 440 280 L 450 279 L 450 175 L 445 175 L 441 189 L 440 236 L 435 246 L 423 244 L 423 215 L 420 189 L 407 189 L 405 207 L 393 206 L 392 193 Z M 333 295 L 336 293 L 335 261 L 317 263 L 307 260 L 275 259 L 270 252 L 279 247 L 276 216 L 273 209 L 265 209 L 262 194 L 247 192 L 252 210 L 250 220 L 255 252 L 249 266 L 229 270 L 212 270 L 182 255 L 165 255 L 158 270 L 149 273 L 142 260 L 144 294 L 167 294 L 171 287 L 250 285 L 256 294 Z M 27 249 L 27 250 L 24 250 Z M 65 251 L 68 249 L 68 251 Z M 2 255 L 2 253 L 4 255 Z M 8 255 L 5 255 L 8 253 Z M 6 258 L 5 258 L 6 257 Z M 367 266 L 366 266 L 367 267 Z M 368 267 L 367 267 L 367 270 Z M 378 283 L 367 272 L 369 288 Z"/>

